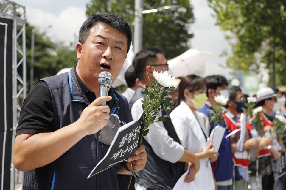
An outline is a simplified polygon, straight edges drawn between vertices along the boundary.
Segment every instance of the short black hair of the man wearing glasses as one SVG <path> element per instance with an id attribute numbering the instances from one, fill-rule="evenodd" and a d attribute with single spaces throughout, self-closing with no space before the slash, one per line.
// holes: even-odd
<path id="1" fill-rule="evenodd" d="M 136 74 L 138 75 L 139 80 L 144 78 L 144 72 L 147 66 L 147 63 L 152 60 L 156 60 L 156 53 L 162 53 L 162 50 L 159 47 L 146 47 L 143 50 L 139 51 L 132 61 L 132 65 L 135 68 Z"/>

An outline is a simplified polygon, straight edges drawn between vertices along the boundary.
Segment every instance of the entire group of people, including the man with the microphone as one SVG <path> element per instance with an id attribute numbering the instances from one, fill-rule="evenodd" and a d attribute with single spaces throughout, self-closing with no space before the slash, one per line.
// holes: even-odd
<path id="1" fill-rule="evenodd" d="M 126 189 L 126 174 L 134 169 L 130 189 L 171 190 L 187 168 L 184 182 L 198 190 L 286 189 L 286 174 L 274 180 L 272 172 L 272 161 L 280 159 L 285 146 L 268 135 L 275 114 L 286 115 L 286 90 L 267 87 L 257 92 L 262 130 L 255 134 L 252 126 L 257 120 L 249 118 L 243 150 L 238 151 L 238 135 L 226 136 L 240 128 L 247 96 L 221 75 L 181 78 L 170 94 L 174 107 L 161 111 L 159 116 L 166 115 L 166 120 L 149 126 L 136 154 L 100 172 L 97 179 L 87 179 L 96 165 L 95 155 L 101 159 L 109 148 L 94 138 L 107 125 L 109 114 L 116 109 L 121 125 L 137 118 L 142 113 L 141 91 L 145 85 L 151 87 L 153 72 L 171 74 L 162 50 L 146 47 L 125 73 L 126 91 L 119 94 L 111 87 L 108 96 L 99 97 L 99 73 L 108 71 L 115 80 L 130 44 L 131 30 L 125 20 L 106 13 L 91 15 L 80 28 L 77 65 L 70 72 L 38 81 L 31 89 L 20 113 L 13 157 L 15 167 L 25 171 L 23 189 Z M 217 95 L 228 101 L 221 114 L 223 122 L 217 123 L 226 130 L 216 152 L 207 139 L 216 127 L 211 113 L 217 107 Z M 251 150 L 254 159 L 249 160 Z"/>

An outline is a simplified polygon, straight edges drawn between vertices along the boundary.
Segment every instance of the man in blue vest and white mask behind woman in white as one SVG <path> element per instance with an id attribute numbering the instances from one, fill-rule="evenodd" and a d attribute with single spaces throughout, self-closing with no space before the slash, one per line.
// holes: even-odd
<path id="1" fill-rule="evenodd" d="M 205 120 L 210 120 L 212 114 L 209 110 L 214 110 L 213 107 L 217 107 L 215 102 L 215 97 L 217 95 L 225 96 L 224 99 L 229 98 L 228 91 L 226 87 L 228 82 L 225 77 L 221 75 L 212 75 L 205 78 L 206 82 L 206 91 L 208 100 L 203 108 L 198 109 L 202 113 Z M 222 102 L 223 103 L 223 102 Z M 226 104 L 226 102 L 225 102 Z M 218 152 L 220 156 L 216 162 L 212 163 L 212 168 L 217 181 L 218 190 L 231 190 L 232 188 L 232 178 L 233 178 L 233 162 L 232 162 L 232 151 L 231 143 L 229 138 L 225 138 L 229 134 L 229 129 L 227 129 L 225 122 L 217 122 L 217 125 L 226 128 L 226 131 L 223 135 L 223 139 L 220 144 Z M 210 131 L 215 128 L 214 122 L 210 122 Z M 209 131 L 209 132 L 210 132 Z"/>

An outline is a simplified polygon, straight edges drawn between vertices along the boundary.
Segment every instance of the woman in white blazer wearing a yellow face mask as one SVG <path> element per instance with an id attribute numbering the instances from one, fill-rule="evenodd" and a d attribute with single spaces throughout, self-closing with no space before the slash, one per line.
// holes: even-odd
<path id="1" fill-rule="evenodd" d="M 186 76 L 179 84 L 178 98 L 170 118 L 182 145 L 200 159 L 200 170 L 194 180 L 198 190 L 215 190 L 215 179 L 209 160 L 217 160 L 218 153 L 214 152 L 212 144 L 206 145 L 208 134 L 203 118 L 197 111 L 204 106 L 206 100 L 204 79 L 196 75 Z"/>

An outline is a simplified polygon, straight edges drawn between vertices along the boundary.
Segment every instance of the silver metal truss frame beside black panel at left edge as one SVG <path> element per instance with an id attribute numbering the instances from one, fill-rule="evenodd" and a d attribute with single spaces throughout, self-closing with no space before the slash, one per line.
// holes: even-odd
<path id="1" fill-rule="evenodd" d="M 26 79 L 26 8 L 13 1 L 0 0 L 0 17 L 13 20 L 13 131 L 12 135 L 12 159 L 10 189 L 15 189 L 15 183 L 22 183 L 23 172 L 15 169 L 13 164 L 13 148 L 15 143 L 16 126 L 18 124 L 17 114 L 21 110 L 23 100 L 27 94 Z M 18 30 L 17 30 L 18 28 Z M 22 37 L 21 42 L 19 40 Z M 19 45 L 22 44 L 22 47 Z M 20 60 L 18 60 L 18 57 Z M 22 66 L 22 69 L 18 69 Z"/>

